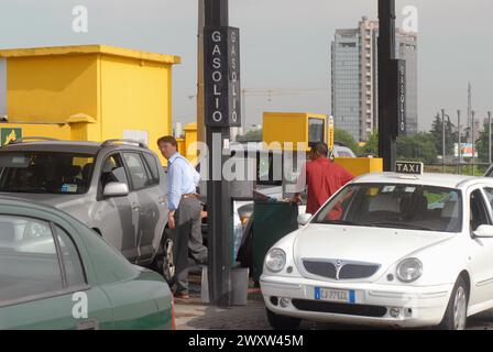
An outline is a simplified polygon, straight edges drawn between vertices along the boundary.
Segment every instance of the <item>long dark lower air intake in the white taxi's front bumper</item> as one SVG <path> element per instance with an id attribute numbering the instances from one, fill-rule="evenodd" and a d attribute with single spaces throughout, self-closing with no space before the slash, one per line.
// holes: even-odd
<path id="1" fill-rule="evenodd" d="M 382 318 L 387 312 L 387 308 L 381 306 L 350 305 L 306 299 L 293 299 L 292 302 L 299 310 L 335 315 Z"/>

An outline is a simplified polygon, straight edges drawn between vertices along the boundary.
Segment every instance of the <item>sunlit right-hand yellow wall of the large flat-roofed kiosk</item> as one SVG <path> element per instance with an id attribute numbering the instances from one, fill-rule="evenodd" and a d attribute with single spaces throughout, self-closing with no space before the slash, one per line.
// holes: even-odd
<path id="1" fill-rule="evenodd" d="M 133 58 L 101 58 L 101 136 L 121 139 L 123 132 L 147 134 L 150 148 L 171 134 L 171 66 Z"/>

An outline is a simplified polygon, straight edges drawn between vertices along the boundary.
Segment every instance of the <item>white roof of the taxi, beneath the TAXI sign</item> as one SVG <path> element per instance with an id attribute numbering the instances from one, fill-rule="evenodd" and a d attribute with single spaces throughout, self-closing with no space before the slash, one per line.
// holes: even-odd
<path id="1" fill-rule="evenodd" d="M 493 178 L 479 176 L 462 176 L 451 174 L 403 175 L 397 173 L 374 173 L 360 176 L 354 180 L 358 184 L 409 184 L 435 187 L 465 189 L 474 184 L 491 184 Z"/>

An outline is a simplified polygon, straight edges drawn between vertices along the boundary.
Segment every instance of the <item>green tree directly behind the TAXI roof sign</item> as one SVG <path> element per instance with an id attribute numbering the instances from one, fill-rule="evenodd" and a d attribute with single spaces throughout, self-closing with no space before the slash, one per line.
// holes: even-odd
<path id="1" fill-rule="evenodd" d="M 397 138 L 397 157 L 403 161 L 434 164 L 437 162 L 437 147 L 431 133 L 419 132 Z"/>

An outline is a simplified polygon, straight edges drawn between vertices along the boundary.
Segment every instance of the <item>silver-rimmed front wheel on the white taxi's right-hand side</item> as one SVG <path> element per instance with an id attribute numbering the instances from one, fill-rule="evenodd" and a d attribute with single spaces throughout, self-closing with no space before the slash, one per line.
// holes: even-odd
<path id="1" fill-rule="evenodd" d="M 468 320 L 468 285 L 462 277 L 456 283 L 447 311 L 439 328 L 443 330 L 465 330 Z"/>

